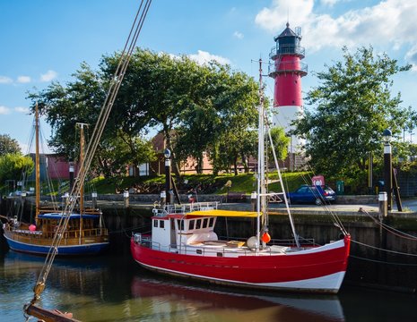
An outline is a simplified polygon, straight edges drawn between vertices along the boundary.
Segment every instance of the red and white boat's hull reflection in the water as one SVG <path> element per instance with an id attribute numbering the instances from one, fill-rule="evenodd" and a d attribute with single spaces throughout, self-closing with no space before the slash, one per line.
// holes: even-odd
<path id="1" fill-rule="evenodd" d="M 208 285 L 207 285 L 208 287 Z M 253 292 L 230 292 L 218 287 L 211 289 L 200 285 L 190 286 L 173 279 L 155 279 L 135 276 L 132 281 L 132 294 L 139 299 L 151 299 L 152 308 L 161 310 L 161 304 L 175 303 L 195 312 L 239 311 L 254 320 L 271 321 L 344 321 L 343 309 L 336 296 L 273 296 Z"/>

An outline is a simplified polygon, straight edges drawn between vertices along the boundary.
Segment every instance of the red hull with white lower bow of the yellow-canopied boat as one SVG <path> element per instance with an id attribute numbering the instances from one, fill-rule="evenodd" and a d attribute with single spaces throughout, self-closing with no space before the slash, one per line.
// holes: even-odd
<path id="1" fill-rule="evenodd" d="M 131 251 L 135 260 L 144 267 L 206 279 L 213 283 L 306 292 L 337 292 L 347 267 L 350 237 L 347 236 L 340 242 L 343 243 L 342 247 L 300 251 L 300 254 L 294 252 L 282 256 L 218 258 L 152 250 L 132 239 Z M 334 281 L 319 281 L 331 275 L 337 275 L 332 277 L 333 280 L 340 279 L 334 286 L 331 285 Z M 309 281 L 309 284 L 317 286 L 303 287 L 302 281 Z M 326 283 L 323 290 L 320 290 L 320 283 Z"/>

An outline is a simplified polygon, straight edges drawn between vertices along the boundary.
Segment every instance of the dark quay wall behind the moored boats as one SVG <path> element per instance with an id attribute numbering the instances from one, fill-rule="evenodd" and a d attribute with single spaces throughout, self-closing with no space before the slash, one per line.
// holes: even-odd
<path id="1" fill-rule="evenodd" d="M 149 196 L 149 199 L 141 202 L 130 199 L 128 208 L 124 207 L 121 199 L 100 200 L 99 205 L 109 229 L 111 252 L 128 256 L 132 233 L 151 232 L 152 204 L 157 198 L 156 195 Z M 203 201 L 204 198 L 200 200 Z M 10 202 L 14 210 L 24 209 L 27 220 L 33 216 L 31 205 L 22 205 L 16 200 Z M 363 201 L 361 203 L 363 204 Z M 4 208 L 3 202 L 0 210 L 2 214 L 7 215 Z M 250 209 L 251 205 L 249 202 L 221 202 L 220 208 Z M 292 211 L 297 233 L 305 239 L 314 239 L 318 244 L 336 240 L 342 236 L 340 229 L 334 225 L 333 217 L 340 218 L 341 225 L 352 236 L 351 257 L 345 283 L 416 292 L 417 214 L 389 213 L 387 218 L 383 219 L 383 224 L 389 229 L 387 231 L 380 224 L 377 212 L 365 214 L 358 211 L 332 210 L 332 213 L 328 213 L 317 209 L 295 208 Z M 256 222 L 253 219 L 219 218 L 216 233 L 232 238 L 255 235 L 255 229 Z M 273 239 L 292 239 L 291 226 L 283 208 L 271 208 L 269 233 Z"/>

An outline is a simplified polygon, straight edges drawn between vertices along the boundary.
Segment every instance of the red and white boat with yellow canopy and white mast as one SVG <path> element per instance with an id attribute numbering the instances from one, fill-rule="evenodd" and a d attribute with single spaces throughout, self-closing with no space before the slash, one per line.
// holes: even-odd
<path id="1" fill-rule="evenodd" d="M 262 81 L 260 88 L 262 89 Z M 131 238 L 132 256 L 138 264 L 163 274 L 194 278 L 213 284 L 292 292 L 339 291 L 348 263 L 351 237 L 339 225 L 343 233 L 342 239 L 322 246 L 300 243 L 291 219 L 276 156 L 275 164 L 282 186 L 279 197 L 287 206 L 294 241 L 290 244 L 273 242 L 267 233 L 266 198 L 269 194 L 265 190 L 264 153 L 265 132 L 269 131 L 266 130 L 261 90 L 257 211 L 221 210 L 217 208 L 217 203 L 155 208 L 152 235 L 135 233 Z M 271 135 L 269 139 L 271 140 Z M 215 233 L 219 217 L 256 218 L 256 235 L 222 240 Z"/>

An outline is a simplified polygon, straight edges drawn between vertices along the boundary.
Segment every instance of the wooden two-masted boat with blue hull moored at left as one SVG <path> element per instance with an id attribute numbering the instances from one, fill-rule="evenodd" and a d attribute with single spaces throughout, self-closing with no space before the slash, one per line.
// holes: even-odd
<path id="1" fill-rule="evenodd" d="M 80 162 L 83 162 L 84 124 L 80 124 Z M 39 183 L 39 114 L 35 111 L 36 137 L 36 213 L 34 224 L 24 224 L 16 218 L 4 225 L 4 237 L 12 250 L 47 255 L 54 241 L 56 229 L 65 216 L 69 216 L 63 240 L 57 247 L 57 255 L 91 255 L 103 252 L 109 247 L 109 233 L 103 226 L 99 209 L 84 208 L 83 188 L 80 192 L 78 211 L 64 214 L 63 211 L 40 207 Z"/>

